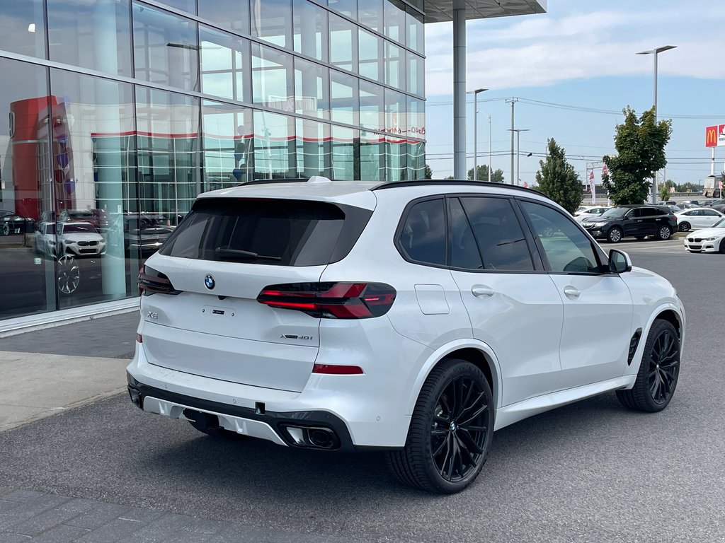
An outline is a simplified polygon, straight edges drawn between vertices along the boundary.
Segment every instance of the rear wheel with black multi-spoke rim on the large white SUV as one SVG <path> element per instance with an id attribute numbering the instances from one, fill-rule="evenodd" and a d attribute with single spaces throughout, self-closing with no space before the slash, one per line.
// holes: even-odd
<path id="1" fill-rule="evenodd" d="M 405 448 L 390 452 L 394 475 L 411 487 L 454 494 L 481 472 L 491 448 L 494 404 L 483 372 L 451 358 L 423 384 Z"/>

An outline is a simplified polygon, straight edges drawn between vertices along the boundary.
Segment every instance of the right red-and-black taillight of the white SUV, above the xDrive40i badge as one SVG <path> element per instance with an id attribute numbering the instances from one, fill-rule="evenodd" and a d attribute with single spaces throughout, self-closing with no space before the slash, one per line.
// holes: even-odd
<path id="1" fill-rule="evenodd" d="M 289 283 L 265 287 L 257 301 L 323 319 L 370 319 L 388 312 L 395 289 L 384 283 Z"/>

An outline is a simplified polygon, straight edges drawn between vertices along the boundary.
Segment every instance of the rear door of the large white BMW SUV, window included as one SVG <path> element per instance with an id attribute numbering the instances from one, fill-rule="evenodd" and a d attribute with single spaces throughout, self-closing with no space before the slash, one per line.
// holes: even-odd
<path id="1" fill-rule="evenodd" d="M 556 390 L 563 306 L 540 259 L 534 264 L 534 241 L 512 202 L 462 196 L 448 203 L 451 273 L 473 337 L 498 358 L 502 405 Z"/>

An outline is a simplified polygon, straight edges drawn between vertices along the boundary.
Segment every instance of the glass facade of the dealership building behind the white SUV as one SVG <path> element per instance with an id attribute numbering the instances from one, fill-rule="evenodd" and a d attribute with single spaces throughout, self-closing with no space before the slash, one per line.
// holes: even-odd
<path id="1" fill-rule="evenodd" d="M 0 319 L 138 295 L 196 195 L 423 177 L 423 0 L 0 0 Z"/>

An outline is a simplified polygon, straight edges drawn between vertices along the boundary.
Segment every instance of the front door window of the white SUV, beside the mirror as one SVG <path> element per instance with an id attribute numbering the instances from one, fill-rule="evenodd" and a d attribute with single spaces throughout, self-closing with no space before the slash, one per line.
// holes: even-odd
<path id="1" fill-rule="evenodd" d="M 539 237 L 551 271 L 599 273 L 599 264 L 589 238 L 571 220 L 555 209 L 534 202 L 521 202 Z M 554 227 L 555 234 L 549 235 Z"/>

